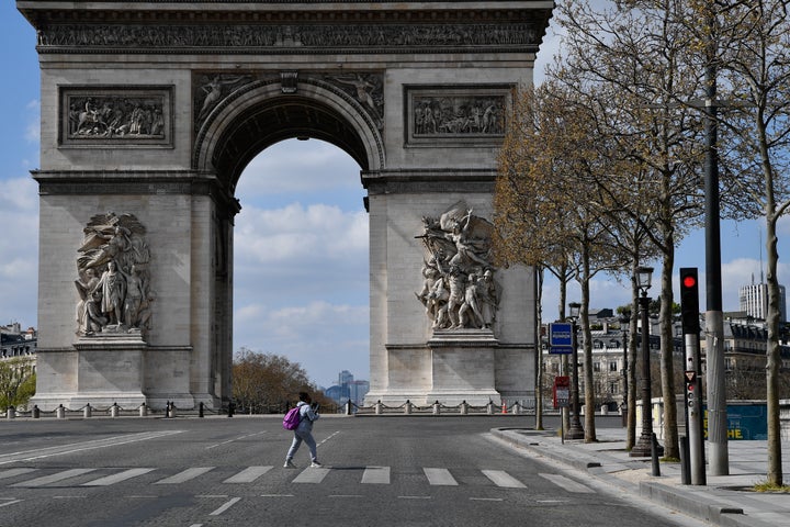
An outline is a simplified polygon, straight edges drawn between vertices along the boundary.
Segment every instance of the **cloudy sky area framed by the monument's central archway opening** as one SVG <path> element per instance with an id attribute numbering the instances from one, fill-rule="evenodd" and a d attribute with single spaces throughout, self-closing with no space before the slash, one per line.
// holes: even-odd
<path id="1" fill-rule="evenodd" d="M 298 362 L 319 385 L 370 371 L 369 218 L 360 165 L 320 139 L 281 141 L 241 171 L 234 351 Z"/>

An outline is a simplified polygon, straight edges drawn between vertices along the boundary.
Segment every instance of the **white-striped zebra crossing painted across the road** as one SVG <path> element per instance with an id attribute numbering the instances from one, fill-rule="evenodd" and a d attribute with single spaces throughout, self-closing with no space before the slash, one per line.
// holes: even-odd
<path id="1" fill-rule="evenodd" d="M 98 468 L 75 468 L 67 470 L 59 470 L 55 472 L 47 472 L 46 469 L 33 469 L 33 468 L 11 468 L 0 470 L 0 485 L 15 489 L 36 489 L 57 486 L 63 484 L 72 484 L 74 486 L 82 487 L 102 487 L 128 482 L 137 478 L 149 475 L 151 480 L 147 481 L 146 484 L 153 485 L 178 485 L 199 478 L 211 476 L 215 473 L 216 467 L 191 467 L 181 470 L 173 474 L 163 474 L 162 469 L 142 467 L 133 469 L 98 469 Z M 229 485 L 238 484 L 251 484 L 259 481 L 266 481 L 267 475 L 281 473 L 279 470 L 273 470 L 272 466 L 251 466 L 246 467 L 233 475 L 227 476 L 223 474 L 221 478 L 222 483 Z M 359 470 L 349 470 L 348 468 L 337 468 L 342 470 L 336 470 L 336 472 L 360 472 L 359 484 L 362 485 L 390 485 L 393 484 L 393 468 L 392 467 L 364 467 L 354 468 Z M 326 481 L 327 476 L 332 473 L 331 467 L 323 468 L 306 468 L 303 470 L 292 471 L 289 469 L 284 470 L 287 474 L 290 482 L 294 484 L 321 484 Z M 110 473 L 108 473 L 110 472 Z M 219 472 L 219 471 L 217 471 Z M 223 471 L 224 472 L 224 471 Z M 509 474 L 504 470 L 479 470 L 482 475 L 485 476 L 485 481 L 488 484 L 500 487 L 500 489 L 527 489 L 528 485 L 518 478 Z M 459 481 L 459 478 L 453 475 L 450 469 L 425 467 L 421 468 L 421 473 L 425 476 L 425 482 L 431 486 L 460 486 L 463 483 L 463 479 Z M 571 493 L 591 493 L 595 492 L 588 486 L 571 480 L 561 474 L 548 474 L 540 473 L 541 478 L 551 483 L 564 489 Z M 279 478 L 279 476 L 278 476 Z M 69 480 L 88 480 L 74 483 Z"/>

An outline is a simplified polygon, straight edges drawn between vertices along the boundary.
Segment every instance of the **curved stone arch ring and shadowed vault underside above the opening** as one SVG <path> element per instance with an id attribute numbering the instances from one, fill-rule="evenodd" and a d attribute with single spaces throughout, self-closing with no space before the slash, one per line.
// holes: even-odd
<path id="1" fill-rule="evenodd" d="M 216 172 L 233 193 L 255 156 L 293 137 L 331 143 L 363 171 L 384 166 L 382 136 L 371 116 L 347 93 L 315 79 L 300 80 L 293 93 L 283 93 L 279 81 L 253 82 L 232 93 L 201 125 L 193 166 Z"/>

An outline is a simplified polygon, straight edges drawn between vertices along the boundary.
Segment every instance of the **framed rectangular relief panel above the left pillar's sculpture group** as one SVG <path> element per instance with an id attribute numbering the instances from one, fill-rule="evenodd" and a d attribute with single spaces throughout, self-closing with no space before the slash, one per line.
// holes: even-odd
<path id="1" fill-rule="evenodd" d="M 60 87 L 60 147 L 173 145 L 172 86 Z"/>

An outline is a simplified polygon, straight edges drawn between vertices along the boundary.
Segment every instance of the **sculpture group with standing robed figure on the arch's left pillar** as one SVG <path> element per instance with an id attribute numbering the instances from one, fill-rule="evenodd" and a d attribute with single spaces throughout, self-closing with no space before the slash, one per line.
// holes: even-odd
<path id="1" fill-rule="evenodd" d="M 83 232 L 75 280 L 77 335 L 147 332 L 156 295 L 145 227 L 132 214 L 109 212 L 93 216 Z"/>

